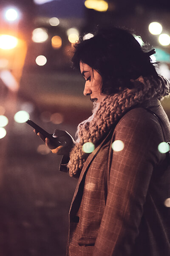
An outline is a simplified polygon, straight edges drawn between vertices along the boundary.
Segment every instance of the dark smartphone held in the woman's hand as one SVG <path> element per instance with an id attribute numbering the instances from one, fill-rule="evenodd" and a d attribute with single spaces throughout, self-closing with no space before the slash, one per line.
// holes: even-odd
<path id="1" fill-rule="evenodd" d="M 54 147 L 58 147 L 58 146 L 62 145 L 61 142 L 59 140 L 57 140 L 57 138 L 54 138 L 52 134 L 49 134 L 47 131 L 42 129 L 39 125 L 37 125 L 36 123 L 31 121 L 30 119 L 28 119 L 26 121 L 26 123 L 28 125 L 30 125 L 31 127 L 33 127 L 37 131 L 37 133 L 40 132 L 40 134 L 42 134 L 42 136 L 44 136 L 45 138 L 48 138 Z"/>

